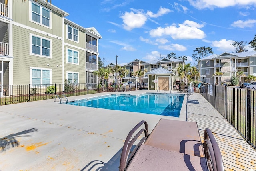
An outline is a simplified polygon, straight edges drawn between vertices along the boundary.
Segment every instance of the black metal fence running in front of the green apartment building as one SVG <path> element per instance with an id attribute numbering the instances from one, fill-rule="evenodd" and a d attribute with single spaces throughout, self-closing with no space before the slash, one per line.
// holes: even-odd
<path id="1" fill-rule="evenodd" d="M 0 85 L 2 94 L 0 96 L 0 105 L 14 104 L 21 102 L 30 102 L 37 100 L 46 100 L 58 98 L 62 94 L 68 96 L 79 96 L 85 94 L 94 94 L 99 92 L 116 91 L 116 87 L 101 84 L 47 84 L 47 85 Z M 57 96 L 56 96 L 57 95 Z"/>

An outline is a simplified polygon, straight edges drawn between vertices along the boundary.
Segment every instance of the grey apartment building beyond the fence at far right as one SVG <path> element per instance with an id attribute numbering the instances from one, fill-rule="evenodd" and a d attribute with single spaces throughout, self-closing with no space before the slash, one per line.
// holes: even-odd
<path id="1" fill-rule="evenodd" d="M 236 76 L 239 71 L 244 75 L 241 77 L 242 82 L 246 82 L 246 77 L 256 73 L 256 51 L 228 53 L 220 55 L 210 55 L 198 62 L 200 69 L 201 81 L 215 84 L 218 77 L 213 76 L 216 72 L 222 72 L 222 83 L 230 83 L 230 78 Z"/>

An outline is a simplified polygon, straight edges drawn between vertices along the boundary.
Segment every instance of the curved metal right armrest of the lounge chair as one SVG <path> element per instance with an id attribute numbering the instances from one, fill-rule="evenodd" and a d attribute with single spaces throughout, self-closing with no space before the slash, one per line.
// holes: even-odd
<path id="1" fill-rule="evenodd" d="M 204 130 L 204 154 L 211 161 L 214 171 L 224 171 L 220 148 L 209 128 Z"/>

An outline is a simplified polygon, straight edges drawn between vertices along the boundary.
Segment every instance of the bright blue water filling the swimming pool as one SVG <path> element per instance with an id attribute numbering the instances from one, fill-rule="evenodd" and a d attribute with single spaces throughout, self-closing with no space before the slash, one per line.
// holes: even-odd
<path id="1" fill-rule="evenodd" d="M 112 94 L 94 98 L 86 98 L 68 102 L 74 106 L 87 106 L 111 110 L 140 112 L 164 116 L 180 116 L 184 95 L 178 94 L 142 94 L 132 96 L 130 94 Z"/>

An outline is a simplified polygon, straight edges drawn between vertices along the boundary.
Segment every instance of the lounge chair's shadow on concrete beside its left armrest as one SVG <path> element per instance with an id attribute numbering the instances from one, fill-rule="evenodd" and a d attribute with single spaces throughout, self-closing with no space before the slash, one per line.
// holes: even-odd
<path id="1" fill-rule="evenodd" d="M 122 149 L 123 148 L 118 150 L 118 152 L 107 163 L 100 160 L 94 160 L 88 163 L 80 171 L 119 171 Z"/>

